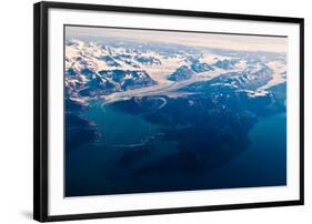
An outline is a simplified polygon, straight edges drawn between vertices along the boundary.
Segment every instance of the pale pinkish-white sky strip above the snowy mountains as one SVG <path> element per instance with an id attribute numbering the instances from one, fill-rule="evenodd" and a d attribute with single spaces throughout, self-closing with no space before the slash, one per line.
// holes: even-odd
<path id="1" fill-rule="evenodd" d="M 139 42 L 165 42 L 240 51 L 268 51 L 280 53 L 285 53 L 288 51 L 288 38 L 285 37 L 172 32 L 94 27 L 66 27 L 66 35 L 77 39 L 79 39 L 79 37 L 128 38 Z"/>

